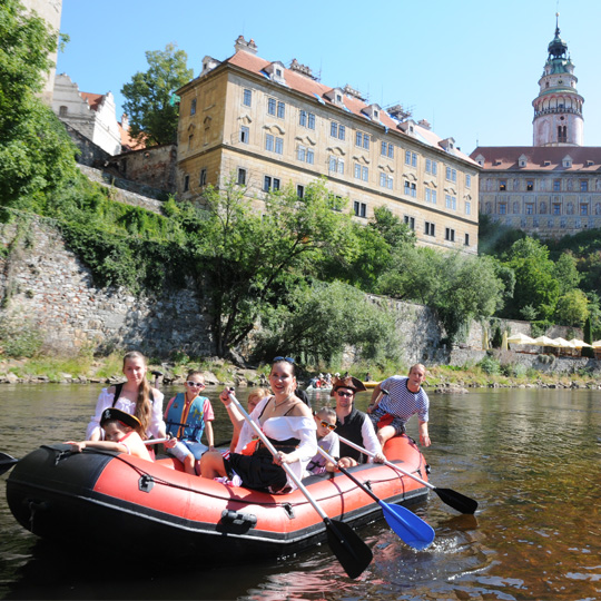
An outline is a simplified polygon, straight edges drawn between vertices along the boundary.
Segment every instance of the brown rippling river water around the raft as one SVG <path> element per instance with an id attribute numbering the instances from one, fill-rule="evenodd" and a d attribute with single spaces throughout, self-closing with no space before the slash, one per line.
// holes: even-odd
<path id="1" fill-rule="evenodd" d="M 81 439 L 98 392 L 3 385 L 0 451 L 20 457 L 42 443 Z M 314 405 L 327 400 L 315 397 Z M 363 393 L 359 408 L 367 400 Z M 217 441 L 230 433 L 219 405 L 214 402 Z M 24 531 L 8 510 L 8 476 L 1 476 L 0 598 L 601 600 L 601 392 L 432 394 L 430 433 L 431 482 L 476 499 L 479 511 L 459 515 L 432 493 L 414 508 L 436 532 L 425 551 L 405 545 L 384 521 L 359 530 L 374 561 L 356 581 L 327 545 L 246 565 L 129 569 L 91 554 L 85 541 L 73 549 Z M 118 533 L 107 535 L 118 546 Z M 149 544 L 157 559 L 168 555 L 160 541 Z"/>

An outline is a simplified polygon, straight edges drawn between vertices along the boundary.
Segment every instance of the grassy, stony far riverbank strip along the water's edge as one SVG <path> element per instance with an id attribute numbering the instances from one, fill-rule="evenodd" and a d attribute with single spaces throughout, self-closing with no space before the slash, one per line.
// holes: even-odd
<path id="1" fill-rule="evenodd" d="M 243 370 L 224 359 L 211 358 L 201 362 L 189 357 L 175 357 L 167 363 L 150 363 L 151 378 L 160 384 L 183 384 L 189 370 L 201 370 L 207 385 L 215 386 L 259 386 L 265 385 L 268 366 L 258 370 Z M 332 373 L 337 370 L 332 368 Z M 403 365 L 387 365 L 384 368 L 371 367 L 367 371 L 358 365 L 352 374 L 361 380 L 380 382 L 391 374 L 405 374 Z M 308 383 L 318 371 L 308 371 L 302 384 Z M 0 359 L 0 384 L 112 384 L 121 382 L 121 356 L 107 357 L 43 357 L 28 359 Z M 601 388 L 593 374 L 581 370 L 574 373 L 541 372 L 520 368 L 516 365 L 501 365 L 494 358 L 481 361 L 476 365 L 462 367 L 434 365 L 427 367 L 425 388 L 428 392 L 465 393 L 469 388 Z"/>

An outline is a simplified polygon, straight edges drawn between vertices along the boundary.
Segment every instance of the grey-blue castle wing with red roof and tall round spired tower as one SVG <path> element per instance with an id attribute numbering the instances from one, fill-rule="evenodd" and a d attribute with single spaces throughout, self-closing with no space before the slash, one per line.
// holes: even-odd
<path id="1" fill-rule="evenodd" d="M 559 18 L 559 14 L 558 14 Z M 480 213 L 542 237 L 601 227 L 601 147 L 583 146 L 584 99 L 568 45 L 555 36 L 539 80 L 533 146 L 480 146 Z"/>

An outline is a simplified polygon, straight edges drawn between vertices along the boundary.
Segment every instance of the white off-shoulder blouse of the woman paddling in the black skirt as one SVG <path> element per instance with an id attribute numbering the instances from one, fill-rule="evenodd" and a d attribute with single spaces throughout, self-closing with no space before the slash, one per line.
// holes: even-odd
<path id="1" fill-rule="evenodd" d="M 265 405 L 269 402 L 269 396 L 263 398 L 258 402 L 257 406 L 250 414 L 250 417 L 258 424 L 259 416 L 263 413 Z M 269 439 L 276 441 L 286 441 L 288 439 L 298 439 L 300 443 L 296 447 L 296 453 L 300 457 L 299 461 L 294 463 L 288 463 L 288 467 L 292 472 L 302 480 L 307 463 L 317 453 L 317 426 L 315 425 L 315 420 L 313 417 L 296 416 L 296 415 L 286 415 L 280 417 L 269 417 L 263 424 L 263 433 Z M 248 422 L 245 422 L 240 437 L 238 439 L 238 444 L 236 445 L 236 453 L 240 453 L 242 450 L 253 440 L 253 434 L 255 431 L 248 425 Z M 296 489 L 296 484 L 287 476 L 288 485 L 292 489 Z"/>

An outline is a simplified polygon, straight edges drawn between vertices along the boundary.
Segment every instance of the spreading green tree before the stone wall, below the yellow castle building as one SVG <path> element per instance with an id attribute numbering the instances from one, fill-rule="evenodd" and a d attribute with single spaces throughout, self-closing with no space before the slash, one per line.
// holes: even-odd
<path id="1" fill-rule="evenodd" d="M 348 253 L 351 218 L 331 209 L 322 180 L 302 199 L 292 186 L 268 195 L 263 214 L 233 180 L 223 190 L 209 187 L 204 200 L 206 210 L 189 213 L 187 227 L 209 290 L 217 354 L 225 356 L 289 289 L 314 277 L 324 257 Z"/>

